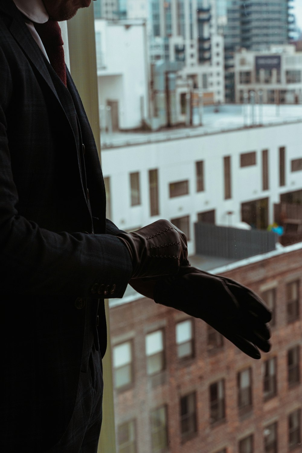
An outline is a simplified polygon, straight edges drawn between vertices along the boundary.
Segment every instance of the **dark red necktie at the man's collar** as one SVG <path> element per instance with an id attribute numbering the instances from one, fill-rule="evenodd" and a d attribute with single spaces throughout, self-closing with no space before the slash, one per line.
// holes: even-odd
<path id="1" fill-rule="evenodd" d="M 34 24 L 34 26 L 43 42 L 50 64 L 66 87 L 63 40 L 58 22 L 48 19 L 45 24 Z"/>

